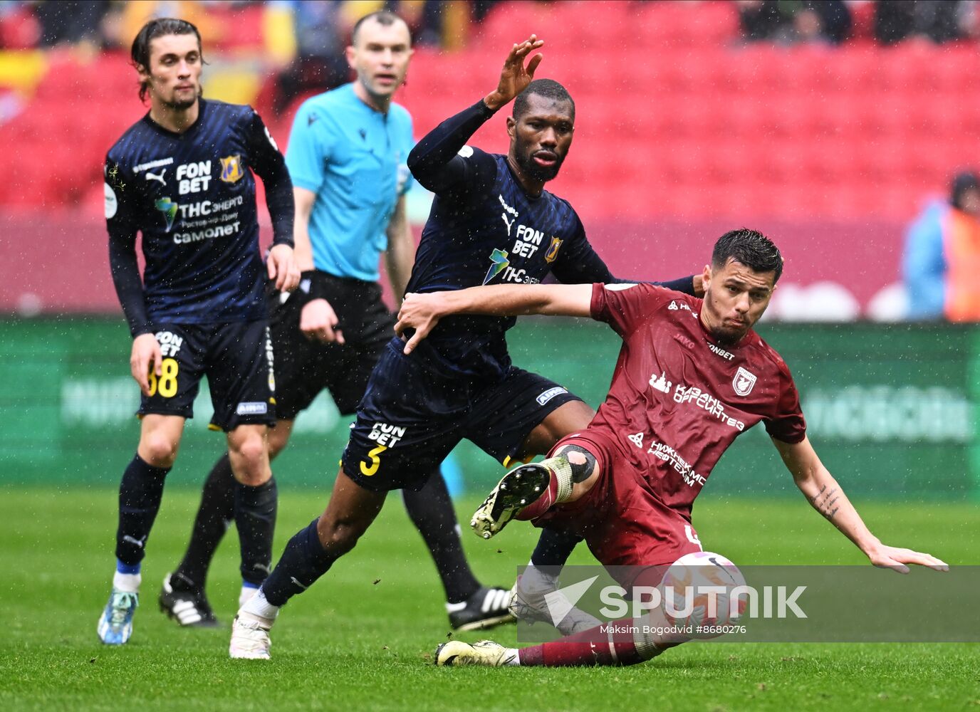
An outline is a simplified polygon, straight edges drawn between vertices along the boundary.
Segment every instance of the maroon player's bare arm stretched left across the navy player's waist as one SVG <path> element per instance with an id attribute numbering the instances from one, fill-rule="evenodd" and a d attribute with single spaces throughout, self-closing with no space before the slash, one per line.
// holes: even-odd
<path id="1" fill-rule="evenodd" d="M 406 330 L 415 329 L 405 345 L 405 353 L 411 354 L 439 319 L 450 314 L 589 316 L 591 305 L 591 284 L 497 284 L 455 292 L 407 294 L 398 312 L 395 333 L 401 336 Z"/>

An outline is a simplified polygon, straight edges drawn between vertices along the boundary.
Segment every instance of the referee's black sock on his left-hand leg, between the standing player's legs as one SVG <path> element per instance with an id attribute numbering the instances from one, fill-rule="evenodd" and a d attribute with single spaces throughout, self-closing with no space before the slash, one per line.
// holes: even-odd
<path id="1" fill-rule="evenodd" d="M 201 492 L 201 506 L 190 533 L 190 543 L 183 560 L 173 572 L 172 584 L 174 580 L 184 581 L 190 588 L 204 589 L 211 559 L 234 518 L 234 511 L 235 477 L 231 474 L 231 461 L 225 452 L 208 473 Z"/>

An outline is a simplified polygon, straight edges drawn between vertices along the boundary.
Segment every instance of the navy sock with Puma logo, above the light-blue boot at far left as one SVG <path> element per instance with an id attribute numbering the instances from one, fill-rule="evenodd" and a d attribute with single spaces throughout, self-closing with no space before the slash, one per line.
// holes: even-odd
<path id="1" fill-rule="evenodd" d="M 154 467 L 136 454 L 120 483 L 120 522 L 116 530 L 116 558 L 128 566 L 138 564 L 146 553 L 146 540 L 164 497 L 164 480 L 170 467 Z"/>

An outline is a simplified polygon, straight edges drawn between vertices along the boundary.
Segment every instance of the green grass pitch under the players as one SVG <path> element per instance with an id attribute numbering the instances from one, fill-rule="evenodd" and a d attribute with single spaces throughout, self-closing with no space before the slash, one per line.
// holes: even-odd
<path id="1" fill-rule="evenodd" d="M 281 489 L 276 556 L 325 501 L 324 492 L 290 491 L 288 483 Z M 0 709 L 980 708 L 974 643 L 694 643 L 632 668 L 438 669 L 432 651 L 449 632 L 442 592 L 397 495 L 361 544 L 284 610 L 272 660 L 231 661 L 226 627 L 181 630 L 157 610 L 160 582 L 182 551 L 196 498 L 189 490 L 166 494 L 144 562 L 133 638 L 112 648 L 98 642 L 95 623 L 113 570 L 115 493 L 0 488 Z M 475 503 L 462 502 L 460 511 Z M 954 565 L 980 563 L 975 504 L 858 507 L 885 542 Z M 707 548 L 740 564 L 862 562 L 803 498 L 706 497 L 695 524 Z M 209 582 L 223 624 L 239 586 L 237 539 L 229 534 Z M 464 538 L 477 575 L 510 586 L 534 532 L 515 523 L 492 542 L 466 531 Z M 592 561 L 582 547 L 572 562 Z M 460 637 L 513 644 L 515 629 Z"/>

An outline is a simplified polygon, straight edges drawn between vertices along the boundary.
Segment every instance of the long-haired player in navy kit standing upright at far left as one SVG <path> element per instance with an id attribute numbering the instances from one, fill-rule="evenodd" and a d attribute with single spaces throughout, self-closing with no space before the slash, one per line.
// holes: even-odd
<path id="1" fill-rule="evenodd" d="M 105 168 L 110 264 L 142 392 L 139 446 L 120 486 L 116 575 L 98 625 L 110 644 L 132 633 L 140 562 L 204 375 L 215 406 L 211 427 L 227 435 L 238 483 L 242 577 L 259 584 L 268 574 L 276 496 L 267 448 L 275 399 L 265 278 L 268 272 L 285 290 L 299 282 L 282 156 L 251 108 L 200 98 L 197 28 L 172 19 L 147 23 L 132 61 L 150 111 L 109 151 Z M 268 265 L 259 253 L 250 168 L 263 178 L 272 217 Z"/>

